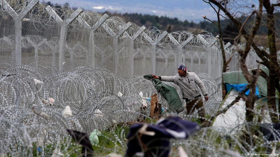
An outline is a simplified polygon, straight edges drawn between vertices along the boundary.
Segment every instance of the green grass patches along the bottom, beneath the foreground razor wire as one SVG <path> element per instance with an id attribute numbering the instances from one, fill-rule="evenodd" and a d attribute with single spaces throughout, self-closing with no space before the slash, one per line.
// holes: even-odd
<path id="1" fill-rule="evenodd" d="M 210 118 L 210 115 L 206 115 L 206 118 Z M 145 123 L 153 124 L 157 120 L 152 118 L 146 118 L 144 120 Z M 192 118 L 192 121 L 201 124 L 199 118 Z M 98 136 L 99 138 L 99 144 L 98 145 L 92 145 L 92 148 L 94 149 L 95 156 L 105 156 L 110 153 L 117 153 L 120 155 L 124 155 L 127 148 L 127 142 L 126 137 L 129 133 L 129 125 L 117 125 L 110 130 L 101 131 L 101 136 Z M 203 136 L 203 138 L 201 138 Z M 198 146 L 198 150 L 202 155 L 206 155 L 207 153 L 213 153 L 211 152 L 213 149 L 225 149 L 225 150 L 234 150 L 239 153 L 244 153 L 244 150 L 241 150 L 240 146 L 237 145 L 236 141 L 232 139 L 229 136 L 224 136 L 220 132 L 215 131 L 214 129 L 208 128 L 206 130 L 200 130 L 196 134 L 191 137 L 193 140 L 199 142 L 203 142 L 204 146 L 200 147 L 200 145 L 197 145 L 197 142 L 193 142 L 194 145 L 191 145 L 191 147 L 195 148 Z M 191 140 L 192 140 L 191 139 Z M 241 139 L 237 139 L 238 141 Z M 65 141 L 66 142 L 66 141 Z M 241 141 L 239 141 L 241 142 Z M 266 152 L 267 147 L 262 145 L 264 141 L 257 141 L 256 145 L 258 147 L 255 148 L 256 152 Z M 64 145 L 61 146 L 61 150 L 64 153 L 64 156 L 70 156 L 70 157 L 78 157 L 82 156 L 81 154 L 81 146 L 78 144 L 75 144 L 74 140 L 72 141 L 71 145 L 67 144 L 67 150 L 66 148 L 63 148 Z M 178 145 L 173 146 L 172 150 L 177 153 Z M 277 145 L 277 148 L 280 146 Z M 54 148 L 52 145 L 46 145 L 44 146 L 44 154 L 47 156 L 51 156 Z M 194 150 L 195 151 L 195 150 Z M 36 143 L 33 143 L 33 149 L 32 149 L 33 156 L 41 156 L 41 153 L 38 153 L 38 148 L 36 146 Z"/>

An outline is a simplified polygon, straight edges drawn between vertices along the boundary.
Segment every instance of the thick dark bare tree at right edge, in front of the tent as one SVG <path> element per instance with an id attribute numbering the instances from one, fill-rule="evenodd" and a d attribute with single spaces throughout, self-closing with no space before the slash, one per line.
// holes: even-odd
<path id="1" fill-rule="evenodd" d="M 272 118 L 272 121 L 278 122 L 279 118 L 277 116 L 276 112 L 276 92 L 275 89 L 280 91 L 280 86 L 279 86 L 279 78 L 280 78 L 280 66 L 279 63 L 277 62 L 277 49 L 276 49 L 276 31 L 275 31 L 275 17 L 274 17 L 274 7 L 280 6 L 280 3 L 278 4 L 270 4 L 269 0 L 259 0 L 259 9 L 254 10 L 251 12 L 251 15 L 248 16 L 248 18 L 245 20 L 245 22 L 241 22 L 237 18 L 235 18 L 236 15 L 232 12 L 230 12 L 229 8 L 227 7 L 227 4 L 229 0 L 208 0 L 208 3 L 217 6 L 219 9 L 221 9 L 225 15 L 234 23 L 234 25 L 239 28 L 239 35 L 237 36 L 236 39 L 239 37 L 244 37 L 246 39 L 246 45 L 245 49 L 241 50 L 238 49 L 239 57 L 240 57 L 240 67 L 241 70 L 248 81 L 250 86 L 250 95 L 248 97 L 244 97 L 246 100 L 246 119 L 247 121 L 252 121 L 253 120 L 253 106 L 254 102 L 256 101 L 256 97 L 254 96 L 255 94 L 255 88 L 256 86 L 254 85 L 256 83 L 257 76 L 259 72 L 262 76 L 264 76 L 267 79 L 267 98 L 268 98 L 268 107 L 270 109 L 270 117 Z M 268 47 L 270 53 L 267 53 L 265 50 L 260 49 L 256 43 L 254 42 L 254 36 L 256 32 L 259 29 L 260 22 L 262 20 L 262 12 L 263 12 L 263 7 L 265 8 L 266 15 L 267 15 L 267 36 L 268 36 Z M 245 29 L 245 24 L 248 21 L 249 18 L 251 18 L 253 15 L 256 15 L 256 21 L 251 28 L 250 32 L 247 33 Z M 248 72 L 247 65 L 245 63 L 246 57 L 251 50 L 251 47 L 255 50 L 259 58 L 262 59 L 260 64 L 265 65 L 269 69 L 269 75 L 266 76 L 264 72 L 261 70 L 258 70 L 258 72 L 254 74 L 250 74 Z"/>

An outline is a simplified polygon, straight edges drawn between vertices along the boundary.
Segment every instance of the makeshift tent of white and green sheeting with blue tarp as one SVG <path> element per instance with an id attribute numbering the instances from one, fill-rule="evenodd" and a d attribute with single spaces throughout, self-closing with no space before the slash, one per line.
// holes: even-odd
<path id="1" fill-rule="evenodd" d="M 268 74 L 267 68 L 260 69 Z M 251 72 L 252 70 L 253 69 L 249 71 Z M 225 72 L 223 73 L 223 80 L 226 84 L 227 95 L 222 102 L 219 110 L 222 110 L 226 106 L 231 104 L 231 102 L 233 102 L 238 96 L 238 93 L 245 89 L 246 85 L 248 85 L 248 82 L 245 79 L 242 71 Z M 264 104 L 265 106 L 267 106 L 267 82 L 265 78 L 259 76 L 256 86 L 257 87 L 255 94 L 259 97 L 259 99 L 255 103 L 255 108 L 256 106 L 262 106 Z M 249 93 L 250 91 L 248 90 L 245 95 L 249 95 Z M 237 130 L 242 128 L 241 126 L 246 120 L 245 109 L 245 101 L 243 99 L 240 99 L 239 102 L 230 107 L 225 114 L 220 114 L 217 116 L 217 118 L 214 119 L 214 128 L 224 132 L 225 134 L 234 134 Z M 263 118 L 263 122 L 271 123 L 271 118 L 267 110 L 264 111 L 264 115 L 265 117 Z"/>

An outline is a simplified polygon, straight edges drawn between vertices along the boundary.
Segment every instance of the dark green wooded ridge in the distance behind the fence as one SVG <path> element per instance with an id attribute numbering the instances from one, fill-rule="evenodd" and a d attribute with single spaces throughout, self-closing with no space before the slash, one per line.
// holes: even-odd
<path id="1" fill-rule="evenodd" d="M 54 6 L 54 4 L 52 4 L 50 1 L 47 1 L 45 3 L 50 6 Z M 57 5 L 56 7 L 60 7 L 60 6 Z M 75 10 L 76 8 L 73 9 Z M 189 21 L 189 20 L 181 21 L 178 18 L 169 18 L 167 16 L 158 17 L 156 15 L 147 15 L 147 14 L 138 14 L 138 13 L 119 14 L 119 13 L 104 12 L 104 13 L 100 13 L 100 15 L 103 15 L 105 13 L 107 13 L 109 16 L 121 17 L 125 20 L 126 23 L 130 21 L 136 23 L 138 26 L 144 25 L 147 28 L 150 26 L 155 26 L 156 28 L 164 29 L 169 33 L 175 31 L 186 31 L 186 30 L 194 32 L 196 31 L 196 29 L 203 30 L 203 31 L 219 32 L 219 28 L 217 25 L 209 22 L 208 20 L 203 20 L 203 17 L 201 17 L 201 20 L 203 21 L 199 23 L 195 23 L 194 21 Z M 241 22 L 244 22 L 246 18 L 247 16 L 245 15 L 238 17 L 238 19 Z M 264 14 L 262 19 L 263 20 L 257 32 L 257 35 L 267 34 L 267 15 Z M 275 13 L 275 19 L 276 19 L 275 27 L 276 29 L 279 29 L 280 12 Z M 215 23 L 218 23 L 215 19 L 211 19 L 211 20 L 213 20 Z M 251 27 L 254 24 L 254 21 L 255 21 L 254 16 L 248 20 L 247 25 L 245 26 L 247 31 L 251 29 Z M 221 28 L 222 28 L 222 35 L 224 38 L 223 40 L 225 40 L 225 42 L 234 39 L 239 33 L 239 30 L 234 26 L 234 24 L 231 22 L 230 19 L 225 19 L 225 18 L 221 19 Z"/>

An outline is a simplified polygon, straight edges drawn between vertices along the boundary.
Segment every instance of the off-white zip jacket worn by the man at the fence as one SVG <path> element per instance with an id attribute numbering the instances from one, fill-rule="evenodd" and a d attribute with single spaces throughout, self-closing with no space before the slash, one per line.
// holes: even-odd
<path id="1" fill-rule="evenodd" d="M 194 99 L 197 96 L 200 96 L 200 92 L 197 88 L 199 86 L 202 94 L 207 95 L 206 88 L 202 81 L 194 72 L 186 72 L 186 76 L 180 76 L 176 74 L 175 76 L 161 76 L 161 81 L 173 82 L 181 88 L 183 98 Z"/>

